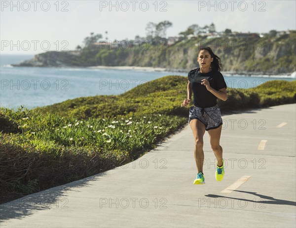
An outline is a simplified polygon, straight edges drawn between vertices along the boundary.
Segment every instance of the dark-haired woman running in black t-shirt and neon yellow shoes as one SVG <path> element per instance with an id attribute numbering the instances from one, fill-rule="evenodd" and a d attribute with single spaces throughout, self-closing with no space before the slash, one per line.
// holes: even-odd
<path id="1" fill-rule="evenodd" d="M 220 72 L 222 69 L 220 61 L 210 47 L 200 48 L 197 57 L 200 68 L 189 71 L 187 99 L 181 104 L 182 107 L 187 107 L 193 92 L 193 106 L 189 108 L 188 123 L 195 140 L 194 158 L 198 173 L 193 182 L 195 185 L 205 184 L 203 135 L 206 130 L 217 159 L 216 180 L 221 181 L 224 176 L 222 147 L 220 146 L 222 117 L 220 108 L 217 106 L 217 98 L 223 101 L 227 99 L 227 86 Z"/>

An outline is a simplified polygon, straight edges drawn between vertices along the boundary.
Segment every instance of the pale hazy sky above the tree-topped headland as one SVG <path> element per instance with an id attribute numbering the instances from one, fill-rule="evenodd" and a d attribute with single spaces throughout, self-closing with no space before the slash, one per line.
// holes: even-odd
<path id="1" fill-rule="evenodd" d="M 74 50 L 91 32 L 108 41 L 145 37 L 149 22 L 165 20 L 173 24 L 167 37 L 192 24 L 214 23 L 217 32 L 296 30 L 296 0 L 0 0 L 0 7 L 1 54 Z"/>

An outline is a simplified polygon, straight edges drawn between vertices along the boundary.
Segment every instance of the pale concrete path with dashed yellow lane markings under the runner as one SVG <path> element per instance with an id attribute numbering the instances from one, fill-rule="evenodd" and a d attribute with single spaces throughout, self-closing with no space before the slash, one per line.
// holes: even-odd
<path id="1" fill-rule="evenodd" d="M 6 227 L 296 227 L 296 104 L 223 116 L 225 176 L 190 126 L 137 161 L 0 205 Z"/>

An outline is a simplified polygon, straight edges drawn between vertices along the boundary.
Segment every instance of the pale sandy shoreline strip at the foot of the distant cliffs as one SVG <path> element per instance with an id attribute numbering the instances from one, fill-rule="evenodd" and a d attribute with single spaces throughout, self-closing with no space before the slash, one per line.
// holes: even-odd
<path id="1" fill-rule="evenodd" d="M 149 66 L 104 66 L 104 65 L 97 65 L 97 66 L 87 66 L 86 68 L 90 69 L 121 69 L 121 70 L 145 70 L 145 71 L 171 71 L 171 72 L 183 72 L 187 73 L 190 69 L 174 69 L 174 68 L 161 68 L 161 67 L 149 67 Z M 295 72 L 289 72 L 289 73 L 281 73 L 281 74 L 272 74 L 269 72 L 249 72 L 249 71 L 222 71 L 222 74 L 227 76 L 262 76 L 262 77 L 289 77 L 289 78 L 295 78 Z M 292 76 L 294 75 L 294 76 Z"/>

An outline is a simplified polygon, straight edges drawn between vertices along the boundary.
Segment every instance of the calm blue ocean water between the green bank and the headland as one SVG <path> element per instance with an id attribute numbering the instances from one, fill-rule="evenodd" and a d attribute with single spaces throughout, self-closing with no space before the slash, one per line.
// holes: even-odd
<path id="1" fill-rule="evenodd" d="M 187 76 L 187 73 L 169 71 L 11 66 L 33 57 L 0 55 L 1 107 L 23 105 L 34 108 L 79 97 L 118 95 L 166 75 Z M 224 74 L 224 78 L 229 88 L 251 88 L 275 79 L 295 80 L 289 75 L 251 77 Z"/>

